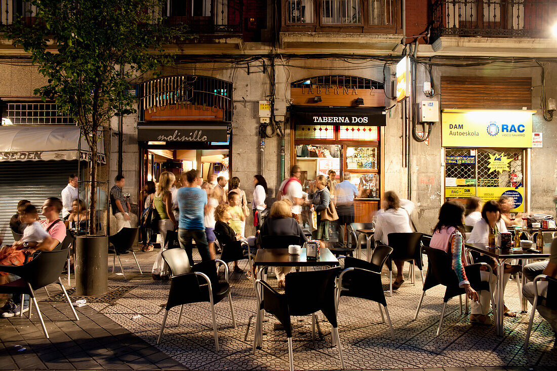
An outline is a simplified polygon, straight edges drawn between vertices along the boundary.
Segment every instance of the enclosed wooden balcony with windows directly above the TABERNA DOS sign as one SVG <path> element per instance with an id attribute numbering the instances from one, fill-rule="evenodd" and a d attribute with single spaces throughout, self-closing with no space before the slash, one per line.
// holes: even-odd
<path id="1" fill-rule="evenodd" d="M 281 31 L 398 33 L 400 0 L 282 0 Z"/>

